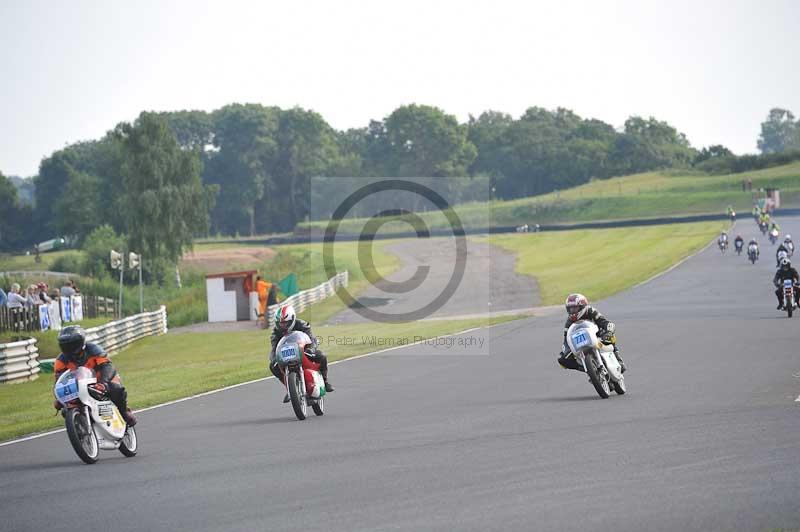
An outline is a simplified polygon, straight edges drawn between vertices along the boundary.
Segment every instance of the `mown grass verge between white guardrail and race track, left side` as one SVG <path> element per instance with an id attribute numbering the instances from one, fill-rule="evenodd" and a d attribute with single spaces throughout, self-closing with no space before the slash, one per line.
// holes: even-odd
<path id="1" fill-rule="evenodd" d="M 512 318 L 496 318 L 493 323 L 508 319 Z M 410 337 L 408 324 L 371 324 L 368 330 L 361 324 L 339 325 L 316 327 L 314 332 L 329 360 L 334 361 L 382 349 L 372 342 L 373 337 L 414 341 L 415 336 L 433 338 L 487 324 L 486 319 L 423 321 L 414 325 Z M 348 341 L 337 345 L 336 341 L 329 342 L 332 338 Z M 113 362 L 129 390 L 132 407 L 143 408 L 265 377 L 269 375 L 267 350 L 266 331 L 167 334 L 137 342 L 115 356 Z M 331 375 L 334 380 L 335 367 Z M 0 440 L 63 426 L 62 418 L 53 415 L 52 386 L 52 375 L 0 386 Z M 281 395 L 279 386 L 275 383 L 271 396 L 276 402 Z M 286 415 L 291 412 L 287 410 Z"/>

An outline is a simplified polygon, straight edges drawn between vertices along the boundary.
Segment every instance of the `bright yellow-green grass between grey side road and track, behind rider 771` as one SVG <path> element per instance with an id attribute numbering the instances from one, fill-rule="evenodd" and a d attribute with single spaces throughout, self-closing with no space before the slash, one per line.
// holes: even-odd
<path id="1" fill-rule="evenodd" d="M 516 270 L 536 277 L 542 304 L 570 292 L 601 299 L 662 272 L 708 244 L 725 222 L 496 235 L 488 241 L 517 255 Z"/>

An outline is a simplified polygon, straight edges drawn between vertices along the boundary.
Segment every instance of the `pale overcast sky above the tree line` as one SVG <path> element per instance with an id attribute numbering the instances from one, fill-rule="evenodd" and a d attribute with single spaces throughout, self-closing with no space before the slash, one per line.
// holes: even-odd
<path id="1" fill-rule="evenodd" d="M 0 0 L 0 171 L 142 110 L 300 106 L 337 129 L 401 104 L 465 121 L 567 107 L 653 115 L 754 152 L 800 114 L 800 2 Z"/>

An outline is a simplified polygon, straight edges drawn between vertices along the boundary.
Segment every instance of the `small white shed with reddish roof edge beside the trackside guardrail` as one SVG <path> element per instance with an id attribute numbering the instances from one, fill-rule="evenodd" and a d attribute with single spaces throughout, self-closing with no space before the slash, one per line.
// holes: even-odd
<path id="1" fill-rule="evenodd" d="M 206 275 L 208 321 L 257 319 L 258 293 L 254 291 L 256 270 Z"/>

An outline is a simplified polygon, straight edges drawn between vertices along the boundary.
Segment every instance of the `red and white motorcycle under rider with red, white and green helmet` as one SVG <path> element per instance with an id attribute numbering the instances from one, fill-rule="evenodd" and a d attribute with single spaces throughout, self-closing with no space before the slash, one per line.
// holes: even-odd
<path id="1" fill-rule="evenodd" d="M 325 413 L 325 382 L 319 364 L 306 356 L 313 350 L 314 343 L 302 331 L 284 336 L 275 347 L 275 360 L 283 371 L 294 415 L 300 421 L 306 418 L 309 405 L 316 415 Z"/>

